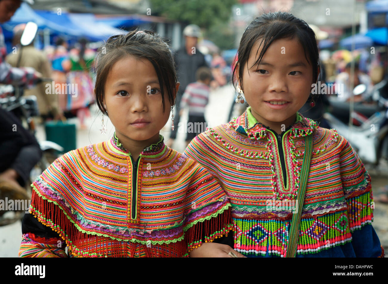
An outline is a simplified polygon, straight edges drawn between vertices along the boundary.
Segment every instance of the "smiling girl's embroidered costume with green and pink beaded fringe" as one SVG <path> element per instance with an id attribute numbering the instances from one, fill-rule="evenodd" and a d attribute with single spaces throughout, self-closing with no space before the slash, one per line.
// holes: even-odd
<path id="1" fill-rule="evenodd" d="M 371 177 L 348 141 L 300 113 L 277 134 L 259 123 L 250 107 L 201 133 L 185 150 L 230 198 L 235 232 L 223 242 L 248 257 L 286 257 L 294 203 L 302 191 L 305 141 L 312 154 L 301 217 L 293 230 L 294 256 L 382 257 L 371 225 Z"/>

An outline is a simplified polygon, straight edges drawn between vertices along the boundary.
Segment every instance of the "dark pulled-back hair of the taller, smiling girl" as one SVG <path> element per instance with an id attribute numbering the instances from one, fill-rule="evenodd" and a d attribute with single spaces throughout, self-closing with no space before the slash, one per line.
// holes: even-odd
<path id="1" fill-rule="evenodd" d="M 303 46 L 305 57 L 313 67 L 312 82 L 316 82 L 316 80 L 318 79 L 317 68 L 319 67 L 320 63 L 318 46 L 317 41 L 315 40 L 314 31 L 308 26 L 305 21 L 295 17 L 293 14 L 287 12 L 272 12 L 263 14 L 260 17 L 254 19 L 248 25 L 248 27 L 246 27 L 244 34 L 242 34 L 240 46 L 237 51 L 237 62 L 233 69 L 233 78 L 235 78 L 234 76 L 237 72 L 237 66 L 240 67 L 238 72 L 242 90 L 244 89 L 244 87 L 242 86 L 243 67 L 248 61 L 249 54 L 251 53 L 251 49 L 255 42 L 258 39 L 262 39 L 260 42 L 260 46 L 262 46 L 263 44 L 263 48 L 260 52 L 258 60 L 252 66 L 260 64 L 265 51 L 267 51 L 268 47 L 273 41 L 277 39 L 291 39 L 294 38 L 294 36 L 296 36 L 300 44 Z M 248 66 L 247 68 L 249 70 Z"/>

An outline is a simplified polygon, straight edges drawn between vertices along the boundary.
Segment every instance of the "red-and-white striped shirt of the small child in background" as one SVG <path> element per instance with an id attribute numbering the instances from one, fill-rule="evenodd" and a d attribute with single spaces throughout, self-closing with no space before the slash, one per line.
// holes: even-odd
<path id="1" fill-rule="evenodd" d="M 189 106 L 189 115 L 204 115 L 209 102 L 210 87 L 201 82 L 187 85 L 180 101 L 180 107 Z"/>

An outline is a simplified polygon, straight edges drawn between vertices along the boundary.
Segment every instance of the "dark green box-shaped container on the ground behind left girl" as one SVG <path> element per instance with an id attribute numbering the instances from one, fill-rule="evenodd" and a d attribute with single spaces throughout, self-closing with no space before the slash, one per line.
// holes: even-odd
<path id="1" fill-rule="evenodd" d="M 45 124 L 46 140 L 61 145 L 64 153 L 76 149 L 76 125 L 74 123 L 49 121 Z"/>

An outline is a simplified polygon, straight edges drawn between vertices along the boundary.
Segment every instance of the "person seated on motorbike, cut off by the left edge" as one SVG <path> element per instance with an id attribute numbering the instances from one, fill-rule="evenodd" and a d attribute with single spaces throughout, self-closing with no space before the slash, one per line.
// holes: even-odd
<path id="1" fill-rule="evenodd" d="M 31 4 L 33 1 L 24 1 Z M 21 1 L 0 0 L 0 23 L 7 22 L 20 7 Z M 33 68 L 14 68 L 5 61 L 3 31 L 0 26 L 0 84 L 34 86 L 41 77 Z M 26 198 L 21 187 L 29 177 L 29 172 L 39 161 L 42 152 L 35 137 L 23 128 L 12 113 L 0 109 L 0 195 L 2 198 Z M 1 211 L 3 214 L 5 211 Z"/>

